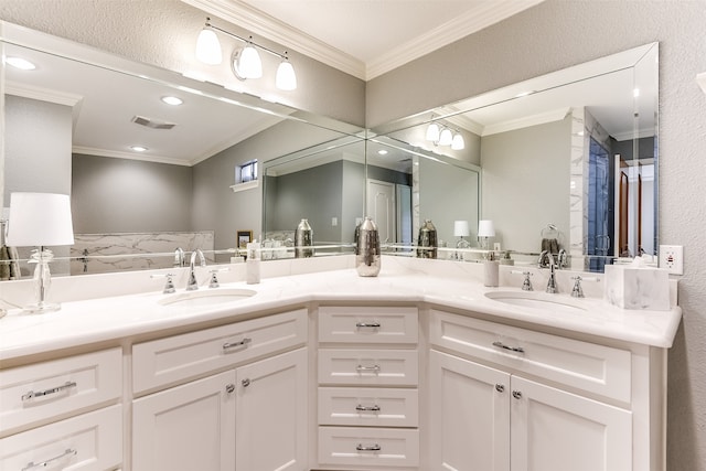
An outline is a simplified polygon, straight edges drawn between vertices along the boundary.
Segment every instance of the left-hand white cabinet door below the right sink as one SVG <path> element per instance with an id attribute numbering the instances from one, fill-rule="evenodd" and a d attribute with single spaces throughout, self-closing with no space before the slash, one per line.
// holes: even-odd
<path id="1" fill-rule="evenodd" d="M 431 351 L 429 379 L 431 470 L 509 471 L 510 375 Z"/>

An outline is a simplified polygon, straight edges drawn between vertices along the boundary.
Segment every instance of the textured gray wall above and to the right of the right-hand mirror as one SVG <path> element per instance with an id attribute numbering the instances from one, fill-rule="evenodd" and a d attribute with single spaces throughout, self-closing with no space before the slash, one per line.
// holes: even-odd
<path id="1" fill-rule="evenodd" d="M 684 246 L 668 361 L 670 471 L 706 470 L 706 3 L 547 0 L 367 84 L 367 126 L 660 42 L 660 228 Z M 434 74 L 428 71 L 435 71 Z"/>

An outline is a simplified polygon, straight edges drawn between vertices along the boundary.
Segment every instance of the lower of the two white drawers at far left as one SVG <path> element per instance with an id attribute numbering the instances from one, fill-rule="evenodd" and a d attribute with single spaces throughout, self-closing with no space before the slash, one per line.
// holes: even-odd
<path id="1" fill-rule="evenodd" d="M 105 471 L 122 461 L 122 407 L 111 406 L 0 440 L 2 470 Z"/>

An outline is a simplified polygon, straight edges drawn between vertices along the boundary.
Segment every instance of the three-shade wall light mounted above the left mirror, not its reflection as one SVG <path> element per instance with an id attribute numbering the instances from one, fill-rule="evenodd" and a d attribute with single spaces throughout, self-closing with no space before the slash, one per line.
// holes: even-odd
<path id="1" fill-rule="evenodd" d="M 293 90 L 297 88 L 297 75 L 295 74 L 295 67 L 289 62 L 287 52 L 280 54 L 269 47 L 256 44 L 253 42 L 253 36 L 246 40 L 237 34 L 214 26 L 211 24 L 210 18 L 206 18 L 206 24 L 203 30 L 201 30 L 201 33 L 199 33 L 196 40 L 196 58 L 199 61 L 210 65 L 221 64 L 221 43 L 216 36 L 216 31 L 245 43 L 245 46 L 236 49 L 231 56 L 231 67 L 237 78 L 245 81 L 247 78 L 260 78 L 263 76 L 263 61 L 257 52 L 259 49 L 281 58 L 277 67 L 275 86 L 282 90 Z M 218 58 L 217 62 L 216 57 Z"/>

